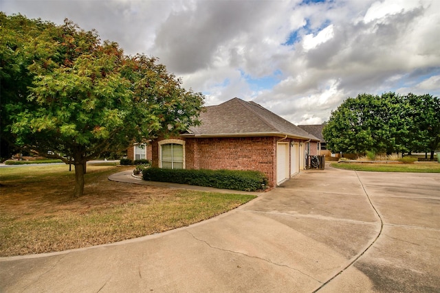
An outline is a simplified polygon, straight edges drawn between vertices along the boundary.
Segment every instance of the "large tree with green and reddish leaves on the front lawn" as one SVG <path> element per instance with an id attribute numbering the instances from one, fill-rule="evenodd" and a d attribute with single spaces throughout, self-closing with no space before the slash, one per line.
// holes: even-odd
<path id="1" fill-rule="evenodd" d="M 5 20 L 14 17 L 23 18 Z M 32 78 L 25 101 L 5 105 L 11 132 L 30 150 L 66 163 L 72 158 L 76 197 L 83 195 L 87 161 L 199 124 L 201 93 L 182 88 L 156 58 L 125 56 L 118 44 L 101 43 L 71 21 L 43 27 L 20 49 L 32 59 L 23 70 Z"/>

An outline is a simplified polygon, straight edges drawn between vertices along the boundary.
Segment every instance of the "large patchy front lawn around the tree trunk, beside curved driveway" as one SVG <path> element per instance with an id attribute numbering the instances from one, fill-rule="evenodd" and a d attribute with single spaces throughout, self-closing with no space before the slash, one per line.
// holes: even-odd
<path id="1" fill-rule="evenodd" d="M 72 199 L 67 165 L 0 169 L 0 256 L 50 253 L 188 226 L 254 196 L 109 181 L 133 167 L 87 167 L 85 196 Z"/>

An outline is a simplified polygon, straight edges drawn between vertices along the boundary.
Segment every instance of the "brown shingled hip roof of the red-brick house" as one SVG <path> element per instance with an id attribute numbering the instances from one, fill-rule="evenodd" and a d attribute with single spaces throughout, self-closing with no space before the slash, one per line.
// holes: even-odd
<path id="1" fill-rule="evenodd" d="M 200 115 L 201 126 L 191 127 L 185 136 L 250 137 L 278 136 L 318 138 L 254 102 L 235 97 L 217 106 L 207 106 Z"/>

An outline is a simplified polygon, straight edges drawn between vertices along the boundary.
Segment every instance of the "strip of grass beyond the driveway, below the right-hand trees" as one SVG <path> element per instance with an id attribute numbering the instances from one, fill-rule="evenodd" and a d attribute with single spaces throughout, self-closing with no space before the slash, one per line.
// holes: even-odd
<path id="1" fill-rule="evenodd" d="M 418 162 L 413 164 L 331 163 L 331 167 L 371 172 L 440 173 L 440 163 L 437 162 Z"/>

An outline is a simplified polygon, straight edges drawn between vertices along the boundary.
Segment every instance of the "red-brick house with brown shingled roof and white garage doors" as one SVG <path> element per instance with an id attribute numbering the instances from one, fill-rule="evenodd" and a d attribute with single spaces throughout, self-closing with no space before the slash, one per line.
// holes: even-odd
<path id="1" fill-rule="evenodd" d="M 207 106 L 200 119 L 179 137 L 151 141 L 146 159 L 151 148 L 153 167 L 257 170 L 275 187 L 304 169 L 305 154 L 318 154 L 320 139 L 254 102 Z"/>

